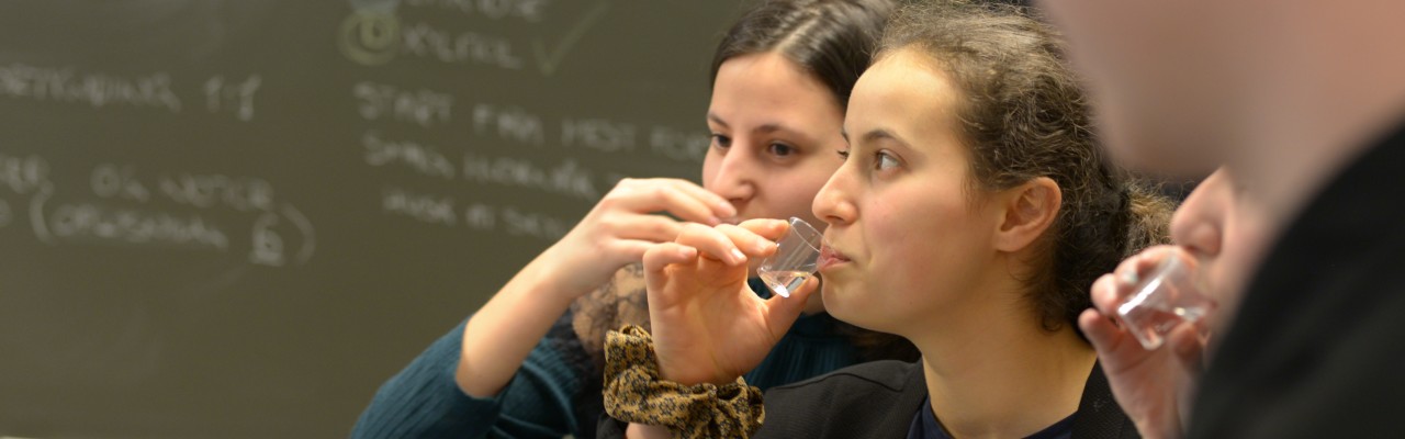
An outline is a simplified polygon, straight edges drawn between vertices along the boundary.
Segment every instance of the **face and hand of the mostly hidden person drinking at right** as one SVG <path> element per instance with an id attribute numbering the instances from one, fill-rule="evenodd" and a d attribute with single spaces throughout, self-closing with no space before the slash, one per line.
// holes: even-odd
<path id="1" fill-rule="evenodd" d="M 1176 211 L 1172 220 L 1175 246 L 1156 246 L 1128 257 L 1117 272 L 1100 277 L 1092 288 L 1096 310 L 1083 311 L 1079 325 L 1093 342 L 1113 387 L 1113 395 L 1146 438 L 1179 438 L 1189 412 L 1194 380 L 1213 356 L 1214 328 L 1227 325 L 1243 290 L 1245 260 L 1263 248 L 1263 218 L 1239 204 L 1243 187 L 1228 170 L 1207 177 Z M 1204 295 L 1218 304 L 1205 321 L 1182 324 L 1170 332 L 1166 346 L 1145 350 L 1130 332 L 1109 315 L 1163 257 L 1184 255 L 1193 266 L 1193 280 Z"/>

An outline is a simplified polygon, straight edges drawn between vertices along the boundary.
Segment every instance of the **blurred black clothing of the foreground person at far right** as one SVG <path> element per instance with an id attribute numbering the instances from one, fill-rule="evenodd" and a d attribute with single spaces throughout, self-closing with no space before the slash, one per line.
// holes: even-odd
<path id="1" fill-rule="evenodd" d="M 1264 253 L 1200 384 L 1190 438 L 1399 436 L 1405 127 Z"/>

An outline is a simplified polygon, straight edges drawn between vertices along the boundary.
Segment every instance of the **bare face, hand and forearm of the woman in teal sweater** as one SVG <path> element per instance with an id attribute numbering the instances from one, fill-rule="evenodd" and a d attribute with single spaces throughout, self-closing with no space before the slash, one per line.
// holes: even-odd
<path id="1" fill-rule="evenodd" d="M 843 144 L 833 93 L 777 53 L 736 56 L 718 70 L 707 120 L 714 142 L 701 187 L 676 179 L 620 182 L 473 314 L 455 370 L 465 394 L 500 393 L 572 301 L 688 224 L 813 221 L 809 200 L 839 166 L 832 151 Z M 653 214 L 659 211 L 681 221 Z M 815 301 L 811 311 L 818 307 Z"/>

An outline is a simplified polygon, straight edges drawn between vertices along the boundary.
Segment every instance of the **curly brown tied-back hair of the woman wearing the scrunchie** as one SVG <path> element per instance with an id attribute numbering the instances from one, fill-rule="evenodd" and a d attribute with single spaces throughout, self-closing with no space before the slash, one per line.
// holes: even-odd
<path id="1" fill-rule="evenodd" d="M 1097 276 L 1168 242 L 1172 203 L 1103 158 L 1061 39 L 1031 13 L 961 0 L 908 4 L 888 24 L 880 56 L 916 49 L 964 94 L 955 114 L 975 190 L 1058 183 L 1062 207 L 1026 284 L 1045 329 L 1076 331 Z"/>

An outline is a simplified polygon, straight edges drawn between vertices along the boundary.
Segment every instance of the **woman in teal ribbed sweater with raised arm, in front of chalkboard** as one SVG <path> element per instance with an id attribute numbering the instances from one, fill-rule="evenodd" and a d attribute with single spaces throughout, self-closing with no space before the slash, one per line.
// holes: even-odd
<path id="1" fill-rule="evenodd" d="M 649 245 L 673 241 L 686 222 L 815 221 L 809 200 L 839 167 L 832 151 L 843 145 L 849 93 L 891 10 L 888 0 L 773 0 L 745 13 L 712 62 L 714 142 L 702 186 L 621 182 L 483 308 L 386 381 L 353 436 L 594 436 L 604 333 L 648 325 L 639 257 Z M 901 339 L 835 321 L 818 300 L 808 310 L 750 369 L 752 383 L 770 387 L 863 359 L 915 357 Z"/>

